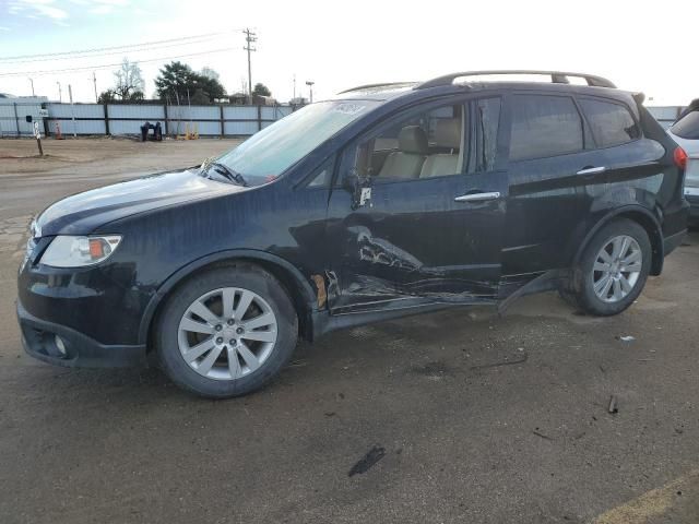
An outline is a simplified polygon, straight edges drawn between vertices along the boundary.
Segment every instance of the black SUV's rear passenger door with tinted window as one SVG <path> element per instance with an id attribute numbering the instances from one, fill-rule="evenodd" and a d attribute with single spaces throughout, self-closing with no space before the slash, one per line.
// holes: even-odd
<path id="1" fill-rule="evenodd" d="M 510 193 L 502 252 L 508 277 L 566 265 L 566 246 L 584 222 L 591 189 L 605 183 L 594 144 L 570 93 L 509 97 Z"/>

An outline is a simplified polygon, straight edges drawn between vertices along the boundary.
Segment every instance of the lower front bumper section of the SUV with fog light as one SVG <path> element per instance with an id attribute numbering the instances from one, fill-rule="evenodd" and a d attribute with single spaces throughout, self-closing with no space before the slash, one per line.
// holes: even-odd
<path id="1" fill-rule="evenodd" d="M 22 344 L 32 357 L 66 367 L 121 368 L 145 366 L 145 345 L 103 345 L 75 330 L 40 320 L 17 300 Z M 62 341 L 64 352 L 56 344 Z"/>

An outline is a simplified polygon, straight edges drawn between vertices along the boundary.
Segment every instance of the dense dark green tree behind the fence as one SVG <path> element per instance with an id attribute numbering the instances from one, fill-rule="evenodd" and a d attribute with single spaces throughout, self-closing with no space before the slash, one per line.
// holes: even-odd
<path id="1" fill-rule="evenodd" d="M 189 99 L 193 104 L 209 104 L 226 96 L 226 90 L 216 79 L 197 73 L 179 61 L 170 62 L 161 69 L 155 79 L 155 88 L 159 98 L 179 100 L 180 104 L 187 103 L 188 91 Z"/>

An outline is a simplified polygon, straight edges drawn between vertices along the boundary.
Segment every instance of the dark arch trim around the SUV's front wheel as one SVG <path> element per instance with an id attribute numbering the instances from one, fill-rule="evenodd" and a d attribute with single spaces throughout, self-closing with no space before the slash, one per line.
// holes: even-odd
<path id="1" fill-rule="evenodd" d="M 279 279 L 286 288 L 294 308 L 298 314 L 299 333 L 306 340 L 312 340 L 312 310 L 316 303 L 316 295 L 301 272 L 287 260 L 281 257 L 248 249 L 226 250 L 213 253 L 179 269 L 173 273 L 149 301 L 141 325 L 139 327 L 139 343 L 146 345 L 146 350 L 153 348 L 153 325 L 157 314 L 175 289 L 189 278 L 204 271 L 229 265 L 235 262 L 248 262 L 262 267 Z"/>

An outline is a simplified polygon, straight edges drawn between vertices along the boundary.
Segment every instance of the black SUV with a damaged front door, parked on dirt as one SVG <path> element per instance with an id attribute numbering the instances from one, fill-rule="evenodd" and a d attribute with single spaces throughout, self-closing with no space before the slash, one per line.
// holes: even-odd
<path id="1" fill-rule="evenodd" d="M 641 102 L 550 71 L 366 85 L 200 167 L 70 196 L 32 227 L 24 345 L 63 366 L 154 357 L 226 397 L 339 327 L 548 289 L 618 313 L 688 214 L 686 155 Z"/>

